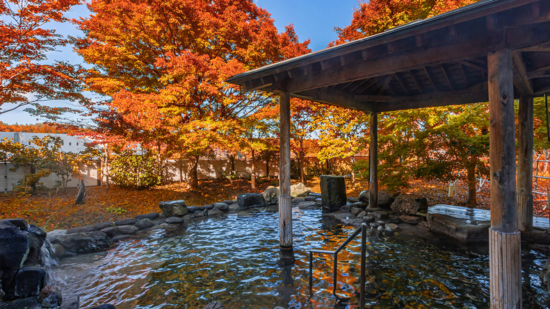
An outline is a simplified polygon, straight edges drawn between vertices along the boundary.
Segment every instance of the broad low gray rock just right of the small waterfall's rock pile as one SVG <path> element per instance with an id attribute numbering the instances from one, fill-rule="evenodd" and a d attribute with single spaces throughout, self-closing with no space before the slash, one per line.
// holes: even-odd
<path id="1" fill-rule="evenodd" d="M 91 253 L 111 247 L 107 234 L 99 231 L 60 235 L 58 240 L 66 251 L 73 253 Z"/>

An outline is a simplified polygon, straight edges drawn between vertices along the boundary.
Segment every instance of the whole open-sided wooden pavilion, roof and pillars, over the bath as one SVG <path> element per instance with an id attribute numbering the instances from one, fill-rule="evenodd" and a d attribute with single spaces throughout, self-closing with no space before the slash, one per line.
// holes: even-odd
<path id="1" fill-rule="evenodd" d="M 280 245 L 292 247 L 290 98 L 371 115 L 376 205 L 377 115 L 489 101 L 490 302 L 521 308 L 520 232 L 533 225 L 533 97 L 550 92 L 550 0 L 482 0 L 337 47 L 232 76 L 280 95 Z M 516 184 L 514 100 L 519 99 Z"/>

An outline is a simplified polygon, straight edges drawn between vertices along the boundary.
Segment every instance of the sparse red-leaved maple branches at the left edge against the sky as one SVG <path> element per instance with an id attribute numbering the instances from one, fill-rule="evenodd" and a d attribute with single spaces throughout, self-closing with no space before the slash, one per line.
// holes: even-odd
<path id="1" fill-rule="evenodd" d="M 81 0 L 4 0 L 0 2 L 0 115 L 27 108 L 34 115 L 56 117 L 70 108 L 44 105 L 50 100 L 86 101 L 83 72 L 47 54 L 69 41 L 47 28 L 67 22 L 63 14 Z"/>

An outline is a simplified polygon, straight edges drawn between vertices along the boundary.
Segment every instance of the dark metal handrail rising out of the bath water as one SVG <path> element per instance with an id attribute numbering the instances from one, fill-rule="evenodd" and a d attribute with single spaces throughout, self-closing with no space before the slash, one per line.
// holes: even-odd
<path id="1" fill-rule="evenodd" d="M 337 269 L 338 269 L 338 253 L 346 247 L 359 233 L 361 233 L 361 274 L 360 274 L 360 287 L 359 287 L 359 308 L 365 308 L 365 261 L 366 261 L 366 223 L 363 223 L 355 232 L 353 232 L 348 239 L 346 239 L 343 244 L 336 249 L 336 251 L 330 250 L 311 250 L 309 251 L 309 292 L 312 293 L 313 286 L 313 253 L 321 254 L 330 254 L 334 256 L 334 269 L 332 272 L 334 274 L 334 289 L 332 294 L 336 296 L 336 285 L 337 285 Z"/>

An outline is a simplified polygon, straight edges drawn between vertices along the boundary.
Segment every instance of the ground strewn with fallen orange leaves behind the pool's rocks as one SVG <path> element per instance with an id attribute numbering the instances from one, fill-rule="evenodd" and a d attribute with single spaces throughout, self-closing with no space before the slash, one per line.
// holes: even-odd
<path id="1" fill-rule="evenodd" d="M 298 181 L 292 181 L 297 183 Z M 172 183 L 146 190 L 124 187 L 87 187 L 86 203 L 74 205 L 76 188 L 67 189 L 65 194 L 42 192 L 31 197 L 16 194 L 0 194 L 0 219 L 22 218 L 31 224 L 42 226 L 47 231 L 56 228 L 72 228 L 96 224 L 106 220 L 118 220 L 149 212 L 159 212 L 159 201 L 184 199 L 188 206 L 215 203 L 224 199 L 236 199 L 237 194 L 245 192 L 263 192 L 269 185 L 278 185 L 276 178 L 260 179 L 255 190 L 250 189 L 250 181 L 238 179 L 229 181 L 201 181 L 201 190 L 191 192 L 184 183 Z M 308 181 L 308 187 L 321 192 L 318 178 Z M 368 188 L 368 181 L 358 179 L 355 186 L 346 178 L 348 197 L 359 197 L 362 190 Z M 485 183 L 478 192 L 478 208 L 489 209 L 489 185 Z M 455 184 L 454 197 L 448 197 L 448 183 L 438 181 L 410 181 L 410 187 L 404 193 L 416 193 L 428 198 L 430 206 L 445 203 L 464 206 L 467 186 L 464 181 Z M 544 199 L 544 201 L 542 201 Z M 535 195 L 535 216 L 548 217 L 549 208 L 543 210 L 546 197 Z"/>

